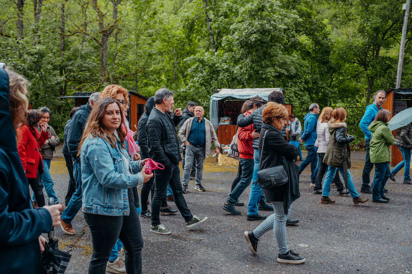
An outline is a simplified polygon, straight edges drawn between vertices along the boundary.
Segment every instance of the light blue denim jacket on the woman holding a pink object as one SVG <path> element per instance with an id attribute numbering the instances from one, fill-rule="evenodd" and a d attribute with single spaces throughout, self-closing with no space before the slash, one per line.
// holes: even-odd
<path id="1" fill-rule="evenodd" d="M 125 141 L 125 147 L 127 143 Z M 143 184 L 141 161 L 124 163 L 129 157 L 117 140 L 117 147 L 100 137 L 86 138 L 81 148 L 82 211 L 108 216 L 129 215 L 127 189 Z M 127 168 L 133 175 L 128 175 Z M 136 174 L 137 173 L 137 174 Z"/>

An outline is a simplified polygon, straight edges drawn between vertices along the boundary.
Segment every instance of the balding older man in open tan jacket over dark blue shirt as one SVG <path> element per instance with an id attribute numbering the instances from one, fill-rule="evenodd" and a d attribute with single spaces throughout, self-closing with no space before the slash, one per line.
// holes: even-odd
<path id="1" fill-rule="evenodd" d="M 196 161 L 196 187 L 194 189 L 206 190 L 202 186 L 203 164 L 205 158 L 209 157 L 212 142 L 215 144 L 216 155 L 220 153 L 218 136 L 216 136 L 212 123 L 203 117 L 204 114 L 203 107 L 197 106 L 194 108 L 194 117 L 187 119 L 179 130 L 180 141 L 185 145 L 183 193 L 187 192 L 193 161 Z"/>

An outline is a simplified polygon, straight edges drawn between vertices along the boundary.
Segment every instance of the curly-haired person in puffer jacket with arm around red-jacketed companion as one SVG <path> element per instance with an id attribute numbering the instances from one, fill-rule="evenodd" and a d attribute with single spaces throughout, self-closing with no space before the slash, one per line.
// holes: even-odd
<path id="1" fill-rule="evenodd" d="M 274 91 L 267 97 L 269 102 L 275 102 L 278 104 L 283 104 L 285 102 L 285 96 L 281 91 Z M 241 114 L 237 118 L 237 125 L 239 127 L 247 127 L 250 124 L 253 124 L 253 127 L 256 132 L 260 133 L 262 129 L 262 111 L 265 108 L 266 104 L 258 108 L 257 110 L 253 111 L 250 115 L 246 116 Z M 281 130 L 281 134 L 283 138 L 286 139 L 286 134 L 288 134 L 288 129 L 286 126 L 283 127 Z M 255 161 L 255 166 L 253 168 L 253 179 L 252 182 L 255 182 L 258 179 L 258 170 L 259 170 L 259 136 L 253 140 L 252 144 L 255 152 L 253 154 L 253 160 Z M 264 219 L 261 218 L 258 209 L 260 210 L 271 210 L 272 207 L 266 204 L 266 199 L 261 197 L 262 189 L 260 188 L 259 184 L 252 184 L 250 187 L 250 194 L 249 194 L 249 205 L 248 205 L 248 215 L 249 216 L 256 216 L 256 220 Z M 273 209 L 272 209 L 273 210 Z M 253 220 L 253 218 L 249 218 L 248 220 Z M 287 225 L 292 225 L 298 223 L 299 220 L 297 219 L 288 219 L 286 221 Z"/>

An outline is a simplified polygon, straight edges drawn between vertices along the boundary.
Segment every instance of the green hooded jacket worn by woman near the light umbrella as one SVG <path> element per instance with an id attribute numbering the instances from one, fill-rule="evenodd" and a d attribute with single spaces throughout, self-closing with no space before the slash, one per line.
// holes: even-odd
<path id="1" fill-rule="evenodd" d="M 383 163 L 391 161 L 390 145 L 395 143 L 395 137 L 389 130 L 388 124 L 376 121 L 369 125 L 368 129 L 372 133 L 370 138 L 369 157 L 372 163 Z"/>

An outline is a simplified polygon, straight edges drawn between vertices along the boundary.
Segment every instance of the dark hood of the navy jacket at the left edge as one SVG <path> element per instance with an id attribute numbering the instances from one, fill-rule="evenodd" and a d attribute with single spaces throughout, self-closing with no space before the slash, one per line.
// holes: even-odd
<path id="1" fill-rule="evenodd" d="M 9 75 L 0 68 L 0 146 L 4 150 L 17 151 L 16 134 L 9 107 Z"/>

